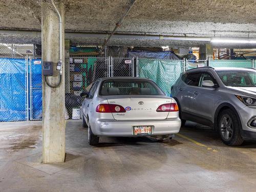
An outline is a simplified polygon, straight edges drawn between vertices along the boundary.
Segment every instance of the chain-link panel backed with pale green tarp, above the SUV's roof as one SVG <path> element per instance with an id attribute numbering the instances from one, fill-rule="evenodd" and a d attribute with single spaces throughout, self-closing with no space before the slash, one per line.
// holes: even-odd
<path id="1" fill-rule="evenodd" d="M 253 60 L 210 60 L 210 67 L 253 68 Z"/>

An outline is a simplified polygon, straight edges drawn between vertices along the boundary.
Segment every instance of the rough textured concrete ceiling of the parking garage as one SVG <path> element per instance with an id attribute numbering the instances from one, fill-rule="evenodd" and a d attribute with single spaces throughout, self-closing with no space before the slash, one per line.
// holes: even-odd
<path id="1" fill-rule="evenodd" d="M 67 32 L 109 33 L 129 6 L 130 0 L 62 2 L 65 4 Z M 255 38 L 255 7 L 256 1 L 252 0 L 137 0 L 117 33 Z M 40 31 L 40 10 L 40 1 L 0 1 L 0 29 Z M 71 40 L 73 44 L 101 45 L 104 42 L 103 37 L 71 37 Z M 0 33 L 0 41 L 38 43 L 40 38 L 29 34 L 15 36 Z M 110 41 L 110 45 L 173 47 L 203 43 L 204 41 L 149 41 L 115 37 Z M 255 47 L 249 47 L 253 46 Z"/>

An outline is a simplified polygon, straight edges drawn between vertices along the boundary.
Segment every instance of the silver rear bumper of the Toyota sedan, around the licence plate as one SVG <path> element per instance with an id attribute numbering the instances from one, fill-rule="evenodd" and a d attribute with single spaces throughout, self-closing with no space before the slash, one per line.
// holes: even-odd
<path id="1" fill-rule="evenodd" d="M 133 135 L 133 126 L 152 126 L 152 135 L 169 135 L 180 131 L 179 118 L 165 120 L 117 121 L 98 119 L 91 123 L 92 132 L 98 136 L 140 137 Z"/>

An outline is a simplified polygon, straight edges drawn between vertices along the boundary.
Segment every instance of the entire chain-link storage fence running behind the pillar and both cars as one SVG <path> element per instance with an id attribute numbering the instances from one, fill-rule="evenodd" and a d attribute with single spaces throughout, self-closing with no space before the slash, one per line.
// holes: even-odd
<path id="1" fill-rule="evenodd" d="M 69 57 L 66 76 L 66 119 L 80 119 L 82 92 L 101 77 L 137 76 L 154 80 L 170 94 L 180 73 L 198 67 L 256 68 L 255 60 L 160 60 L 117 57 Z M 41 58 L 0 57 L 0 121 L 42 118 Z M 67 89 L 67 86 L 69 89 Z"/>

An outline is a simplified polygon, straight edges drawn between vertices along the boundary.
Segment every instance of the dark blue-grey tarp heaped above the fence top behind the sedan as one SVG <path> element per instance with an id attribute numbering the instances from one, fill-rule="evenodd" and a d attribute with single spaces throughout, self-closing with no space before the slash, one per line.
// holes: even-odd
<path id="1" fill-rule="evenodd" d="M 128 57 L 139 57 L 140 59 L 168 59 L 168 60 L 180 60 L 181 58 L 172 51 L 161 52 L 142 52 L 142 51 L 129 51 Z"/>

